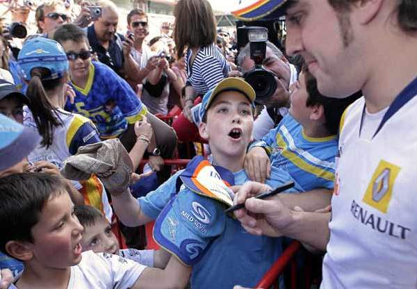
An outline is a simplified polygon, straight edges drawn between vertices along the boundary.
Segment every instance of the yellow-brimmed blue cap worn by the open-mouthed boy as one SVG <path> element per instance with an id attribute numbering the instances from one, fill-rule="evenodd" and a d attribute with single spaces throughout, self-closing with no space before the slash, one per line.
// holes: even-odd
<path id="1" fill-rule="evenodd" d="M 250 100 L 252 107 L 255 107 L 254 100 L 256 94 L 252 86 L 240 77 L 228 77 L 227 79 L 220 81 L 218 85 L 213 88 L 213 90 L 208 90 L 208 92 L 204 94 L 202 105 L 199 108 L 199 119 L 203 119 L 211 101 L 213 101 L 213 99 L 215 99 L 220 92 L 224 91 L 238 91 L 245 94 L 245 97 Z"/>

